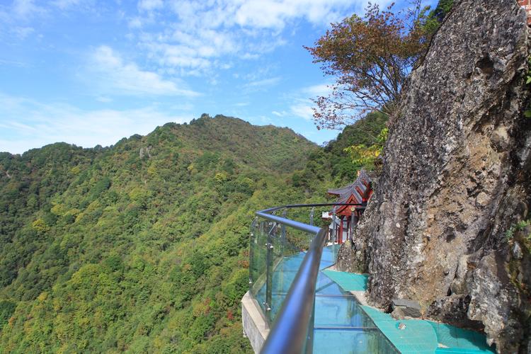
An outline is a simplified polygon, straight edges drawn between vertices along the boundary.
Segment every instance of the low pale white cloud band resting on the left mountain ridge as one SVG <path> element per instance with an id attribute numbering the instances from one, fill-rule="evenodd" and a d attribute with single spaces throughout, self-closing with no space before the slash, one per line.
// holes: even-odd
<path id="1" fill-rule="evenodd" d="M 193 118 L 154 107 L 79 110 L 72 105 L 43 104 L 3 94 L 0 94 L 0 117 L 0 152 L 16 154 L 54 142 L 82 147 L 108 146 L 122 137 L 146 135 L 166 122 L 186 122 Z"/>

